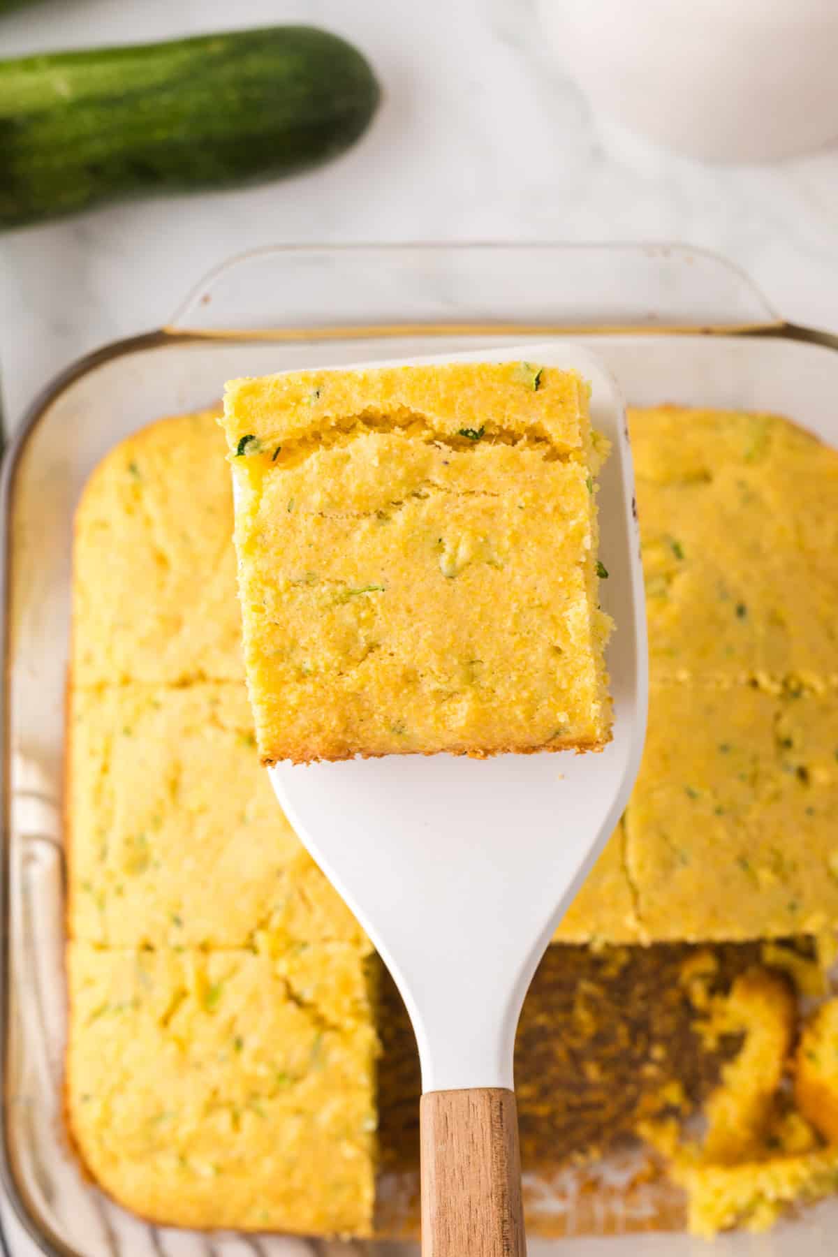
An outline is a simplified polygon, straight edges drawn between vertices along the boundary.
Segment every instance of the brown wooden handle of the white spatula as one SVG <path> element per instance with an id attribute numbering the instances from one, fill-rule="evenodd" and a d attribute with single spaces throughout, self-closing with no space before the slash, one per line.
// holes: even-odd
<path id="1" fill-rule="evenodd" d="M 422 1257 L 524 1257 L 515 1095 L 422 1096 Z"/>

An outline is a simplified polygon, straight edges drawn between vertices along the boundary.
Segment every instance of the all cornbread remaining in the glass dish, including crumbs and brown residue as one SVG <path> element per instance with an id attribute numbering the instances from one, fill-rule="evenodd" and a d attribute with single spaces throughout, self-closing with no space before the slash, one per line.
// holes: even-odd
<path id="1" fill-rule="evenodd" d="M 122 442 L 79 507 L 67 764 L 69 1128 L 95 1182 L 161 1223 L 379 1233 L 405 1226 L 383 1195 L 373 1216 L 373 1183 L 387 1179 L 402 1138 L 415 1148 L 415 1046 L 392 989 L 378 994 L 367 939 L 297 842 L 259 767 L 215 416 L 166 420 Z M 716 997 L 761 962 L 776 994 L 770 1017 L 760 1022 L 754 1011 L 751 1022 L 785 1026 L 789 997 L 776 970 L 797 980 L 814 968 L 805 952 L 753 940 L 800 940 L 838 919 L 832 625 L 813 613 L 803 641 L 804 626 L 780 615 L 776 581 L 760 585 L 749 571 L 758 541 L 770 535 L 773 571 L 778 581 L 786 573 L 790 597 L 812 597 L 815 611 L 838 606 L 838 455 L 765 416 L 662 409 L 633 411 L 629 424 L 650 608 L 650 732 L 627 812 L 557 933 L 593 945 L 552 948 L 524 1011 L 521 1145 L 536 1169 L 712 1095 L 719 1067 L 739 1051 L 730 1018 L 744 1008 L 743 987 L 727 1009 L 730 1033 L 714 1014 Z M 346 437 L 351 463 L 354 437 L 333 435 L 324 453 L 337 458 Z M 465 456 L 482 456 L 485 439 Z M 300 459 L 300 484 L 319 456 Z M 258 476 L 250 458 L 246 474 Z M 367 470 L 363 491 L 372 493 Z M 726 530 L 707 532 L 702 554 L 691 512 L 711 529 L 721 489 L 741 494 L 739 480 L 753 491 L 736 499 Z M 805 493 L 794 491 L 799 484 Z M 410 512 L 422 499 L 405 503 Z M 748 512 L 754 518 L 740 520 Z M 781 513 L 778 533 L 771 517 Z M 721 586 L 722 571 L 736 582 L 727 574 Z M 799 590 L 802 573 L 817 593 Z M 222 792 L 212 781 L 219 763 Z M 660 939 L 672 941 L 611 945 Z M 711 939 L 743 941 L 697 945 Z M 803 978 L 799 989 L 808 991 Z M 784 1203 L 838 1182 L 834 1130 L 814 1112 L 838 1112 L 830 1016 L 802 1037 L 797 1110 L 783 1109 L 783 1081 L 768 1094 L 778 1068 L 788 1077 L 788 1033 L 785 1047 L 774 1036 L 775 1050 L 749 1066 L 766 1092 L 765 1139 L 753 1155 L 724 1161 L 712 1146 L 696 1158 L 671 1145 L 694 1229 L 764 1224 Z M 376 1066 L 378 1035 L 386 1055 Z M 751 1056 L 740 1063 L 754 1062 L 755 1045 L 746 1040 Z M 619 1062 L 631 1077 L 621 1079 Z M 748 1100 L 739 1082 L 734 1091 Z M 726 1104 L 722 1090 L 709 1111 Z M 761 1120 L 758 1105 L 753 1111 Z M 403 1172 L 402 1190 L 416 1182 L 416 1160 Z M 593 1188 L 589 1199 L 589 1226 L 602 1217 L 621 1224 L 623 1195 L 612 1212 Z M 545 1223 L 530 1203 L 534 1232 L 549 1229 L 555 1219 Z M 580 1203 L 574 1224 L 585 1217 Z M 681 1224 L 682 1202 L 662 1217 Z"/>

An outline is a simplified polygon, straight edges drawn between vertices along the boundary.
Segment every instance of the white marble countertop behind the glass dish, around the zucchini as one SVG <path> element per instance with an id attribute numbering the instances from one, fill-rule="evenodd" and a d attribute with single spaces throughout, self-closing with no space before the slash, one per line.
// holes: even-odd
<path id="1" fill-rule="evenodd" d="M 737 261 L 786 317 L 838 328 L 838 150 L 722 168 L 617 134 L 555 72 L 530 0 L 44 0 L 3 20 L 0 52 L 285 20 L 367 52 L 384 89 L 372 129 L 289 182 L 0 236 L 10 421 L 62 366 L 160 324 L 207 268 L 268 243 L 680 240 Z"/>

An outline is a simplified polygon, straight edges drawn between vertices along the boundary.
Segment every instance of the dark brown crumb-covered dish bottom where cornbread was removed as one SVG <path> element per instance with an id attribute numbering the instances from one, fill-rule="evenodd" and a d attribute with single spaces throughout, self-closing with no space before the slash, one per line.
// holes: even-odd
<path id="1" fill-rule="evenodd" d="M 707 980 L 711 999 L 724 996 L 759 957 L 754 943 L 701 950 L 705 962 L 715 962 Z M 697 952 L 677 943 L 547 949 L 515 1041 L 525 1173 L 536 1175 L 541 1168 L 554 1174 L 590 1161 L 624 1144 L 641 1119 L 662 1110 L 688 1114 L 717 1085 L 720 1066 L 739 1042 L 725 1037 L 711 1047 L 699 1032 L 691 992 L 678 982 Z M 416 1038 L 392 978 L 381 968 L 381 1156 L 386 1166 L 400 1165 L 418 1178 Z"/>

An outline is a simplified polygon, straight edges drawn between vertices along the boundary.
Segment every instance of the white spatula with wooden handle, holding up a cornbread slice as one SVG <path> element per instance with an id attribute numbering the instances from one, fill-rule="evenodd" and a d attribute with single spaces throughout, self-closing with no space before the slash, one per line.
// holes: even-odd
<path id="1" fill-rule="evenodd" d="M 423 1254 L 519 1257 L 515 1027 L 535 967 L 637 773 L 646 620 L 624 410 L 607 371 L 562 343 L 457 358 L 574 367 L 592 383 L 593 425 L 612 442 L 598 504 L 609 572 L 602 601 L 617 625 L 608 650 L 613 742 L 602 754 L 391 755 L 279 763 L 270 774 L 302 841 L 388 965 L 413 1023 L 423 1089 Z"/>

